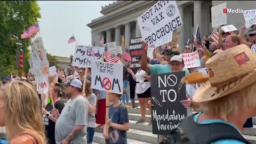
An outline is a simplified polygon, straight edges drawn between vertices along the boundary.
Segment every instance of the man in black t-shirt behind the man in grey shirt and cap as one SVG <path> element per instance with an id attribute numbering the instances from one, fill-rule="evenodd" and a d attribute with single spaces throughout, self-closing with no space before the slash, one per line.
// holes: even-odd
<path id="1" fill-rule="evenodd" d="M 51 92 L 52 92 L 52 100 L 54 103 L 54 107 L 59 110 L 59 113 L 61 113 L 63 107 L 65 106 L 64 103 L 59 98 L 62 96 L 61 87 L 60 86 L 51 87 Z M 57 121 L 57 118 L 51 115 L 52 109 L 53 109 L 52 102 L 48 103 L 45 109 L 44 108 L 42 109 L 46 137 L 48 139 L 49 144 L 55 144 L 55 123 Z"/>

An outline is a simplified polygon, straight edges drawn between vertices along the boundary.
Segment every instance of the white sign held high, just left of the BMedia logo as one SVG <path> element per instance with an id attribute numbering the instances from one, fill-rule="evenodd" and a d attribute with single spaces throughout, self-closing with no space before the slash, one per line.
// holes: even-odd
<path id="1" fill-rule="evenodd" d="M 227 24 L 227 13 L 223 13 L 226 8 L 227 3 L 211 7 L 212 28 Z"/>

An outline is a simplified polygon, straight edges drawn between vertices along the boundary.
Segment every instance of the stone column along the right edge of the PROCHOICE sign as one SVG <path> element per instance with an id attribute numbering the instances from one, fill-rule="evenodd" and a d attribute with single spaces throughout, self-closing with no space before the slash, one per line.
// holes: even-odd
<path id="1" fill-rule="evenodd" d="M 180 39 L 179 39 L 179 50 L 180 52 L 183 52 L 183 49 L 184 49 L 184 44 L 186 43 L 185 41 L 187 41 L 186 39 L 184 39 L 184 34 L 186 33 L 184 31 L 184 23 L 185 23 L 185 19 L 184 19 L 184 12 L 183 12 L 183 6 L 181 5 L 179 7 L 179 12 L 180 12 L 180 17 L 182 19 L 182 22 L 183 22 L 183 25 L 179 27 L 179 31 L 180 31 Z"/>

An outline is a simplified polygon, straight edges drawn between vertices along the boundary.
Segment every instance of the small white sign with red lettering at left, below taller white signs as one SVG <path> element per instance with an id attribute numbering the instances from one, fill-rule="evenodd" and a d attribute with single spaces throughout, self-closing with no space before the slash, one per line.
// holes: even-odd
<path id="1" fill-rule="evenodd" d="M 42 76 L 36 76 L 35 77 L 36 85 L 37 85 L 37 91 L 39 94 L 43 94 L 47 92 L 49 89 L 49 81 L 47 75 Z"/>

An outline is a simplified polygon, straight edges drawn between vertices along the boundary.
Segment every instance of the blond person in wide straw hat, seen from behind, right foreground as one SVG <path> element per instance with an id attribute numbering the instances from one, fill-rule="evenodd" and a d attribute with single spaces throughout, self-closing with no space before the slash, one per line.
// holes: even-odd
<path id="1" fill-rule="evenodd" d="M 206 62 L 206 67 L 209 76 L 194 73 L 182 79 L 187 84 L 201 83 L 193 100 L 201 103 L 205 111 L 185 118 L 179 126 L 184 127 L 194 121 L 193 129 L 201 127 L 199 133 L 202 135 L 209 133 L 210 129 L 203 129 L 207 124 L 223 123 L 223 126 L 231 126 L 233 135 L 241 138 L 220 137 L 213 142 L 209 141 L 211 137 L 202 140 L 193 133 L 190 134 L 193 135 L 190 140 L 196 139 L 203 143 L 249 143 L 241 132 L 246 119 L 256 116 L 256 55 L 246 45 L 238 45 L 214 55 Z"/>

